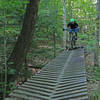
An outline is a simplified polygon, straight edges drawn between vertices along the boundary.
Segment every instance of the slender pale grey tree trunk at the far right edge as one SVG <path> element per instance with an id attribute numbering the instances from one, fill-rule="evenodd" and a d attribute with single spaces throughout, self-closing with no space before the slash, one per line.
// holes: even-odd
<path id="1" fill-rule="evenodd" d="M 94 66 L 99 66 L 99 31 L 100 31 L 100 1 L 96 4 L 96 32 L 95 32 L 95 51 L 94 51 Z"/>

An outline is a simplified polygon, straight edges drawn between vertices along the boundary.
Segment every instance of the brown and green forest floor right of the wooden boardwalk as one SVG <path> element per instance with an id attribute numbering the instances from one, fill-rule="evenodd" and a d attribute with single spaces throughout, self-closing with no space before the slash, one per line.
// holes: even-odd
<path id="1" fill-rule="evenodd" d="M 93 58 L 93 52 L 89 53 L 86 57 L 88 93 L 89 96 L 98 97 L 100 99 L 100 68 L 94 68 Z"/>

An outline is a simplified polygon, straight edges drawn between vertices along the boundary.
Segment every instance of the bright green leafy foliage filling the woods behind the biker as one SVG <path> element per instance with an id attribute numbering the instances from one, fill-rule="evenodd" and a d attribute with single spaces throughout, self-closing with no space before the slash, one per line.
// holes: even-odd
<path id="1" fill-rule="evenodd" d="M 29 0 L 0 0 L 0 54 L 3 54 L 3 39 L 6 33 L 7 39 L 7 58 L 9 57 L 16 38 L 20 34 L 23 18 L 25 14 L 26 4 Z M 88 50 L 94 50 L 95 44 L 95 17 L 96 9 L 93 0 L 66 0 L 66 16 L 67 23 L 70 18 L 75 18 L 80 27 L 79 43 L 86 45 Z M 28 60 L 35 60 L 35 57 L 46 59 L 46 63 L 53 58 L 54 50 L 54 33 L 56 33 L 56 53 L 62 50 L 63 36 L 63 2 L 62 0 L 40 0 L 37 24 L 35 29 L 32 48 L 28 53 Z M 68 33 L 67 33 L 68 34 Z M 41 47 L 40 47 L 41 46 Z M 49 60 L 48 60 L 49 59 Z M 0 69 L 4 63 L 4 57 L 0 59 Z M 45 62 L 40 65 L 43 67 Z M 13 62 L 10 62 L 13 64 Z M 4 64 L 3 64 L 4 66 Z M 100 80 L 100 70 L 95 70 L 96 79 Z M 4 75 L 5 69 L 0 71 L 0 75 Z M 16 70 L 9 69 L 8 74 L 14 75 Z M 21 75 L 27 75 L 27 72 Z M 2 76 L 1 75 L 1 76 Z M 4 80 L 0 83 L 0 87 L 9 85 L 12 89 L 16 88 L 11 82 L 7 84 Z M 3 91 L 0 88 L 0 91 Z M 10 91 L 7 91 L 9 93 Z"/>

